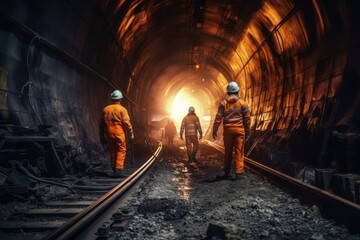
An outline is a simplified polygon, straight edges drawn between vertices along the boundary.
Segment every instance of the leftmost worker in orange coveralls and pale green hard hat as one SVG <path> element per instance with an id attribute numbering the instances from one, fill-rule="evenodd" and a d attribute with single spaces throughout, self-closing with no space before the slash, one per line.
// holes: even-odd
<path id="1" fill-rule="evenodd" d="M 126 155 L 126 134 L 129 135 L 130 141 L 134 140 L 128 111 L 120 103 L 122 98 L 123 95 L 119 90 L 115 90 L 111 94 L 112 104 L 103 109 L 100 126 L 100 140 L 102 143 L 106 140 L 114 177 L 127 177 L 123 172 Z"/>

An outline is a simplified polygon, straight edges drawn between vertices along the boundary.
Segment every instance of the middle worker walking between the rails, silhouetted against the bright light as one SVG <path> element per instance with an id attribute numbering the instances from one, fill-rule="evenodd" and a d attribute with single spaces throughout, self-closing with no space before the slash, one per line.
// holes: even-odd
<path id="1" fill-rule="evenodd" d="M 189 113 L 183 118 L 180 128 L 180 139 L 184 140 L 183 133 L 185 130 L 186 151 L 189 162 L 198 162 L 196 153 L 199 149 L 199 141 L 197 133 L 199 132 L 199 140 L 202 138 L 202 130 L 199 117 L 195 114 L 195 108 L 190 107 Z"/>

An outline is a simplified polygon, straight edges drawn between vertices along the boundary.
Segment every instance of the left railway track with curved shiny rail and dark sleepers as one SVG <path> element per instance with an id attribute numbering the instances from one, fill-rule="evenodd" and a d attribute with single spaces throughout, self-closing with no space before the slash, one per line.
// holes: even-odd
<path id="1" fill-rule="evenodd" d="M 19 211 L 13 220 L 0 223 L 1 239 L 96 239 L 106 237 L 111 228 L 122 228 L 131 214 L 124 205 L 126 194 L 136 185 L 159 156 L 162 144 L 142 165 L 127 169 L 129 177 L 93 178 L 91 185 L 77 186 L 83 200 L 64 195 L 37 208 Z M 71 179 L 68 179 L 69 181 Z M 22 219 L 22 220 L 17 220 Z M 17 236 L 17 233 L 21 235 Z M 89 237 L 89 234 L 91 237 Z"/>

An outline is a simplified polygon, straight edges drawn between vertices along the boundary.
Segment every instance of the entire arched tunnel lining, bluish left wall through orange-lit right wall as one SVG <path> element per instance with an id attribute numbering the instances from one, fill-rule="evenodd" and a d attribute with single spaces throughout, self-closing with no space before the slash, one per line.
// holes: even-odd
<path id="1" fill-rule="evenodd" d="M 49 131 L 61 145 L 99 149 L 89 129 L 114 88 L 141 138 L 195 79 L 211 116 L 227 82 L 239 83 L 254 141 L 279 143 L 259 161 L 281 150 L 326 167 L 331 131 L 359 133 L 357 2 L 18 0 L 0 9 L 2 122 Z"/>

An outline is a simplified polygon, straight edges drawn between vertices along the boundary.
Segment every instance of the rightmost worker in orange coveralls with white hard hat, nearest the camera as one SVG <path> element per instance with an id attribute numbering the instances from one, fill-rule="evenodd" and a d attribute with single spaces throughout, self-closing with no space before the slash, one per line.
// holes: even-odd
<path id="1" fill-rule="evenodd" d="M 217 137 L 221 122 L 224 127 L 224 176 L 229 178 L 232 165 L 232 152 L 235 148 L 236 179 L 241 179 L 244 173 L 244 143 L 250 130 L 250 110 L 248 104 L 239 98 L 239 86 L 230 82 L 226 88 L 227 96 L 221 101 L 215 117 L 212 136 Z"/>

